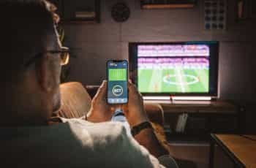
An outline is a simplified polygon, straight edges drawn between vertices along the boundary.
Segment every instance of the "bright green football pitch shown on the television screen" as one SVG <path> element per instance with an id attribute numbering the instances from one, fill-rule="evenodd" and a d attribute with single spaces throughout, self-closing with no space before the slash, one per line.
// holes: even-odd
<path id="1" fill-rule="evenodd" d="M 138 69 L 141 93 L 207 93 L 208 69 Z"/>

